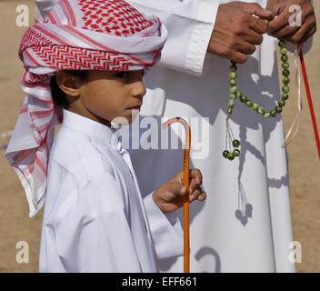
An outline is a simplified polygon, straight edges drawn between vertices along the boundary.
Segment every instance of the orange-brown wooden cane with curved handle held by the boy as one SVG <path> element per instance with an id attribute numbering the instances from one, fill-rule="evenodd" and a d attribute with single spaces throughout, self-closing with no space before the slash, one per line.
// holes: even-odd
<path id="1" fill-rule="evenodd" d="M 186 195 L 184 197 L 184 273 L 190 272 L 190 235 L 189 235 L 189 155 L 191 143 L 190 126 L 184 118 L 174 117 L 165 122 L 165 128 L 179 122 L 185 127 L 185 153 L 184 153 L 184 186 Z"/>

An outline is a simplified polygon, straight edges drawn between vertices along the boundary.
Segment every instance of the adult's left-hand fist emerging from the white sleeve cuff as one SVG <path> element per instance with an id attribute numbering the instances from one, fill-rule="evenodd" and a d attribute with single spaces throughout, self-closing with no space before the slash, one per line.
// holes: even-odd
<path id="1" fill-rule="evenodd" d="M 271 20 L 273 13 L 256 3 L 234 1 L 219 5 L 208 52 L 245 63 L 246 55 L 255 53 L 255 45 L 263 42 L 267 32 L 268 26 L 260 18 Z"/>

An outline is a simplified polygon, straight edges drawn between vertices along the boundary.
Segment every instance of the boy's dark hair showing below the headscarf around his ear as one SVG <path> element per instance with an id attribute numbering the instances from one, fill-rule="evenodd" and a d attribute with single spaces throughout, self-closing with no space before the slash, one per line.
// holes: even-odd
<path id="1" fill-rule="evenodd" d="M 66 73 L 78 77 L 81 81 L 85 81 L 87 76 L 87 71 L 85 70 L 67 70 Z M 51 77 L 50 87 L 55 105 L 67 109 L 67 107 L 69 106 L 69 102 L 66 99 L 65 92 L 60 89 L 59 85 L 57 85 L 55 75 Z"/>

